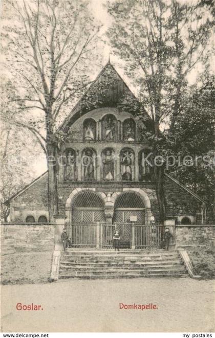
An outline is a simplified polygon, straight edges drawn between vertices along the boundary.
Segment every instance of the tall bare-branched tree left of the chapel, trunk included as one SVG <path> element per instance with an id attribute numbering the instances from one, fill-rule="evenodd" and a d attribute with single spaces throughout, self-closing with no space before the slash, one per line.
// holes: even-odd
<path id="1" fill-rule="evenodd" d="M 57 122 L 88 83 L 84 71 L 89 67 L 99 27 L 90 17 L 88 3 L 82 0 L 8 1 L 4 7 L 5 64 L 14 86 L 20 88 L 19 98 L 11 101 L 20 103 L 19 122 L 23 126 L 33 115 L 31 126 L 44 145 L 52 220 L 58 213 Z M 37 132 L 38 116 L 39 124 L 44 121 L 45 137 Z"/>

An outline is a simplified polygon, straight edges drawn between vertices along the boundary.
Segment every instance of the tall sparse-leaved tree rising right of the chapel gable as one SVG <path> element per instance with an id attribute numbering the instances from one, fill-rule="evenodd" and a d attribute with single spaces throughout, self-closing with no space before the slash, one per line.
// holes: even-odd
<path id="1" fill-rule="evenodd" d="M 187 75 L 208 56 L 212 19 L 204 6 L 175 0 L 110 2 L 114 18 L 107 33 L 114 52 L 125 61 L 124 70 L 136 87 L 152 128 L 148 140 L 152 162 L 171 154 L 173 130 L 187 98 Z M 162 128 L 165 125 L 165 129 Z M 164 129 L 164 130 L 163 130 Z M 160 219 L 165 219 L 165 161 L 153 166 Z"/>

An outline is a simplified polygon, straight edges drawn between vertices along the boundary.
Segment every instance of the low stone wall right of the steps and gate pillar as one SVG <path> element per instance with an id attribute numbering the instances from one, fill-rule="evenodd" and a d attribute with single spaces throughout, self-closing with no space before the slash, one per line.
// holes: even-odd
<path id="1" fill-rule="evenodd" d="M 215 225 L 176 226 L 176 247 L 211 247 L 215 241 Z"/>

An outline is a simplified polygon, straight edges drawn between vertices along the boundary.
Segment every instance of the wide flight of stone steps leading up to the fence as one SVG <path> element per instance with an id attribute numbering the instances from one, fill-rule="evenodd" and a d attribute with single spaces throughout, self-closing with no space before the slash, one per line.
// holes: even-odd
<path id="1" fill-rule="evenodd" d="M 61 253 L 59 278 L 186 277 L 177 251 L 75 250 Z"/>

